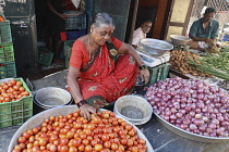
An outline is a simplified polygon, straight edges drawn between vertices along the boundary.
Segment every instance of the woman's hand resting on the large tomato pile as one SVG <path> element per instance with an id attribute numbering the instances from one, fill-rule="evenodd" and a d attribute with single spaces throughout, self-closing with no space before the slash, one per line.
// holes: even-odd
<path id="1" fill-rule="evenodd" d="M 80 106 L 81 110 L 81 116 L 87 118 L 88 121 L 91 121 L 91 113 L 96 115 L 96 109 L 93 107 L 89 104 L 83 104 Z"/>

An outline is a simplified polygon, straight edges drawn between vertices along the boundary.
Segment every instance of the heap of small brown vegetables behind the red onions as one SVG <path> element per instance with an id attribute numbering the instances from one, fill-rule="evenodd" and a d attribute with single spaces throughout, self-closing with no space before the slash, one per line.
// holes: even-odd
<path id="1" fill-rule="evenodd" d="M 197 55 L 194 53 L 181 51 L 181 50 L 171 51 L 170 60 L 169 60 L 169 63 L 171 64 L 171 68 L 177 69 L 181 72 L 182 74 L 192 74 L 194 76 L 203 76 L 203 77 L 210 76 L 209 74 L 202 73 L 193 68 L 194 66 L 188 63 L 189 58 L 196 64 L 200 64 L 200 62 L 195 60 Z"/>

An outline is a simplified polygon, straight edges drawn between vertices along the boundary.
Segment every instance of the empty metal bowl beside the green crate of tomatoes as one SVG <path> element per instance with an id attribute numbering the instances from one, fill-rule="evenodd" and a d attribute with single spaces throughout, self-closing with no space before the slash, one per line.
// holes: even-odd
<path id="1" fill-rule="evenodd" d="M 35 100 L 41 107 L 51 109 L 69 104 L 72 96 L 61 88 L 46 87 L 36 91 Z"/>

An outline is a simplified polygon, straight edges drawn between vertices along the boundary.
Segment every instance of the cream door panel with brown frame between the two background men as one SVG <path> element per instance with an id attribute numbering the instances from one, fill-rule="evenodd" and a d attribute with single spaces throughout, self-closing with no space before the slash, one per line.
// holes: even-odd
<path id="1" fill-rule="evenodd" d="M 170 35 L 185 35 L 194 0 L 172 0 L 164 39 Z"/>

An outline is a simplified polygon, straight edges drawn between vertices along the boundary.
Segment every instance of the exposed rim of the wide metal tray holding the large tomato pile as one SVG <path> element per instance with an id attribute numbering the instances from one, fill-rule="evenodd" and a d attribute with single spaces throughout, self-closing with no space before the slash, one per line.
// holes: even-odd
<path id="1" fill-rule="evenodd" d="M 67 106 L 50 109 L 50 110 L 47 110 L 45 112 L 41 112 L 41 113 L 33 116 L 26 123 L 24 123 L 17 129 L 17 131 L 14 134 L 13 138 L 11 139 L 11 142 L 10 142 L 10 145 L 9 145 L 9 149 L 8 149 L 8 152 L 12 152 L 13 148 L 16 144 L 19 144 L 17 143 L 17 139 L 19 139 L 20 136 L 22 136 L 23 132 L 25 132 L 28 129 L 33 129 L 33 128 L 35 128 L 37 126 L 40 126 L 45 118 L 49 118 L 51 115 L 53 115 L 53 116 L 68 115 L 69 113 L 73 113 L 73 112 L 75 112 L 77 110 L 79 109 L 77 109 L 76 105 L 67 105 Z M 105 111 L 105 110 L 100 110 L 100 111 Z M 116 115 L 116 116 L 118 118 L 121 118 L 119 115 Z M 126 119 L 124 119 L 124 121 L 126 123 L 131 124 Z M 147 152 L 154 152 L 154 149 L 152 148 L 152 145 L 150 145 L 149 141 L 147 140 L 147 138 L 145 137 L 145 135 L 137 127 L 135 127 L 134 125 L 133 125 L 133 127 L 136 129 L 138 138 L 145 139 L 146 147 L 147 147 Z"/>

